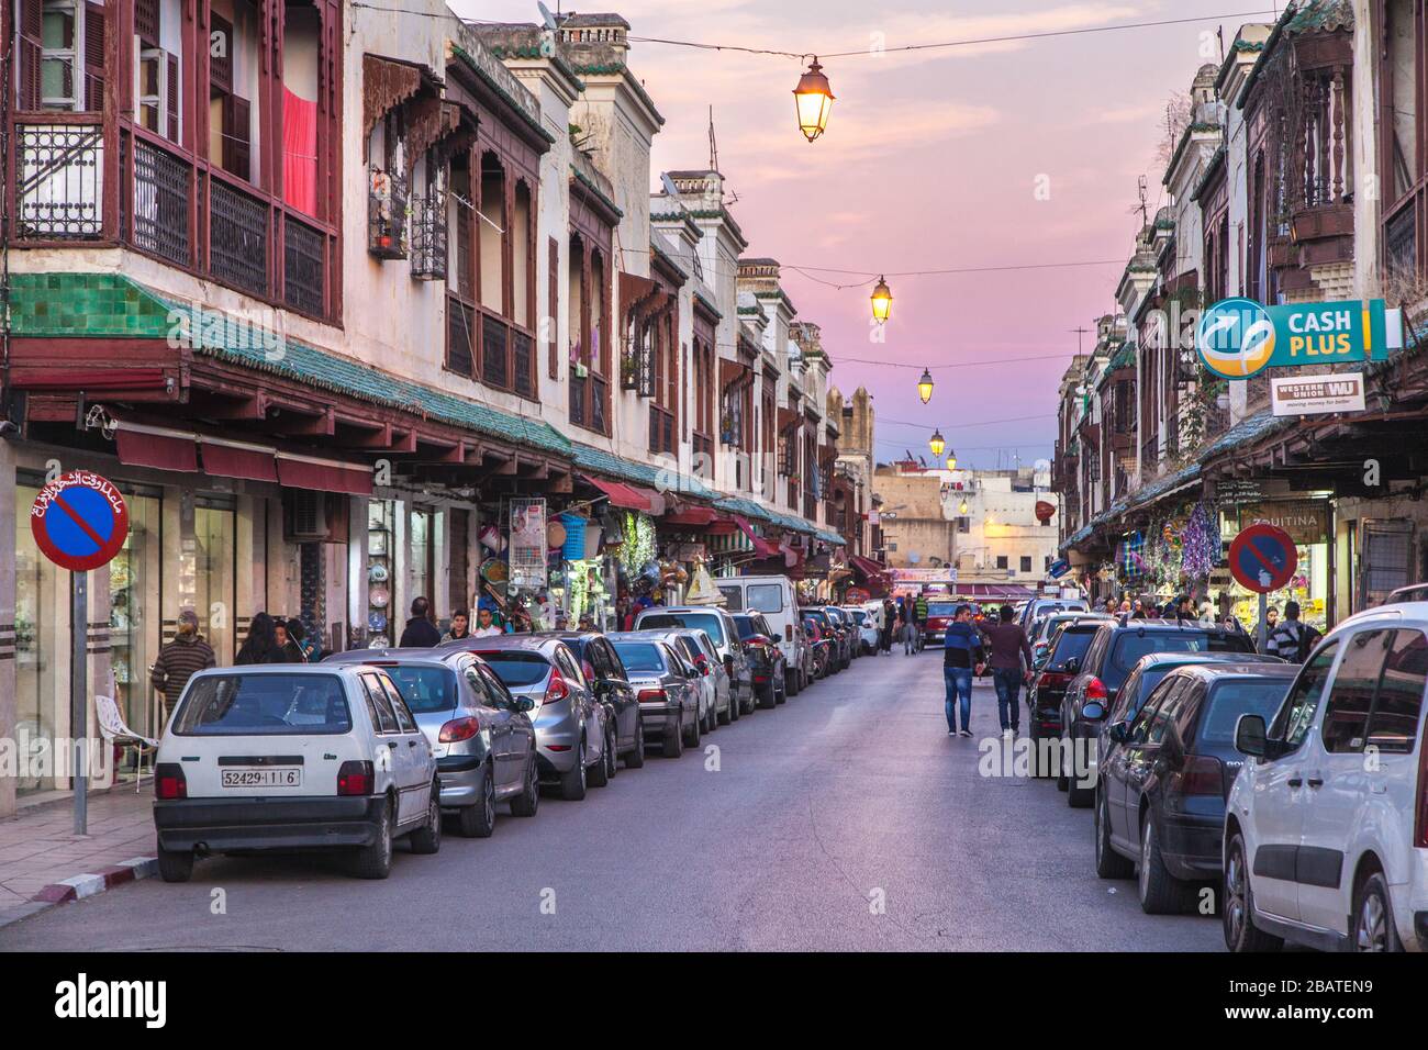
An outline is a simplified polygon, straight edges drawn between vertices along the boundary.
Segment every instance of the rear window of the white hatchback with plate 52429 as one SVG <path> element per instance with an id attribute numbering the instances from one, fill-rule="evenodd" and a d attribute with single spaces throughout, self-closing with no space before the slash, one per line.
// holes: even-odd
<path id="1" fill-rule="evenodd" d="M 353 727 L 336 674 L 213 674 L 194 679 L 174 717 L 181 736 L 291 736 Z"/>

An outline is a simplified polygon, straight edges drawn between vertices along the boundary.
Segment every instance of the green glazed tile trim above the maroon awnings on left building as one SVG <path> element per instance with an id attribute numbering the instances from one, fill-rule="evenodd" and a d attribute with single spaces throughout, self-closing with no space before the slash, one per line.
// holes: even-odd
<path id="1" fill-rule="evenodd" d="M 114 273 L 13 274 L 11 311 L 17 336 L 80 336 L 169 339 L 170 313 L 191 316 L 191 306 L 169 299 Z M 206 317 L 228 321 L 218 310 Z M 568 456 L 570 441 L 554 427 L 526 416 L 480 404 L 458 394 L 398 379 L 370 364 L 317 347 L 281 340 L 274 344 L 250 324 L 204 324 L 191 339 L 194 353 L 281 376 L 317 390 L 343 394 L 370 404 L 418 413 L 454 427 Z"/>

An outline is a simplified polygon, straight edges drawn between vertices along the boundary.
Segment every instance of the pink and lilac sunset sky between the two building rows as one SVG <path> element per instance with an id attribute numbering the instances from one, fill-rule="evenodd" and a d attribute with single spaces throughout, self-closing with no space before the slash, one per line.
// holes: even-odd
<path id="1" fill-rule="evenodd" d="M 477 19 L 538 19 L 533 0 L 457 0 L 454 7 Z M 575 10 L 617 10 L 631 36 L 824 53 L 867 49 L 874 34 L 891 49 L 1204 16 L 1181 26 L 830 59 L 824 71 L 837 101 L 827 134 L 811 144 L 794 123 L 791 91 L 803 66 L 793 59 L 631 47 L 630 67 L 665 117 L 654 171 L 708 163 L 713 103 L 720 169 L 738 194 L 731 211 L 750 239 L 748 254 L 785 264 L 784 289 L 798 316 L 823 327 L 834 383 L 844 393 L 863 384 L 874 394 L 878 457 L 900 457 L 904 449 L 930 456 L 927 437 L 938 426 L 962 464 L 991 467 L 998 459 L 1020 454 L 1030 463 L 1051 454 L 1055 386 L 1075 351 L 1071 329 L 1092 327 L 1094 317 L 1114 310 L 1140 223 L 1131 214 L 1137 179 L 1147 176 L 1151 206 L 1161 203 L 1158 121 L 1170 94 L 1185 90 L 1207 60 L 1201 34 L 1222 26 L 1228 41 L 1240 24 L 1268 20 L 1247 13 L 1272 7 L 1264 0 L 944 0 L 877 13 L 850 0 L 625 0 Z M 1235 17 L 1217 17 L 1225 14 Z M 1035 194 L 1041 176 L 1048 200 Z M 868 289 L 835 290 L 787 269 L 891 273 L 1084 260 L 1120 261 L 888 277 L 895 301 L 884 344 L 868 340 Z M 924 364 L 1045 354 L 1062 356 L 934 367 L 932 401 L 918 401 Z"/>

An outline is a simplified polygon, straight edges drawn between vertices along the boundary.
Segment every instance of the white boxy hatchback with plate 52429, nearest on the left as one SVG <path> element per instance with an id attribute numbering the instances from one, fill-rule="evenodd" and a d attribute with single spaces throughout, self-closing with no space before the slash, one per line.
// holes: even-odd
<path id="1" fill-rule="evenodd" d="M 203 670 L 159 741 L 154 827 L 167 883 L 197 856 L 308 847 L 386 879 L 393 839 L 441 849 L 437 760 L 380 667 Z"/>

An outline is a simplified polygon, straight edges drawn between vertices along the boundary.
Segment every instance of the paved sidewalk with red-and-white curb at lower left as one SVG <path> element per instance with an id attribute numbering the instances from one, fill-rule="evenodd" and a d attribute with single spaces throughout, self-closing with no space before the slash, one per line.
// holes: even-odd
<path id="1" fill-rule="evenodd" d="M 154 789 L 89 797 L 89 834 L 69 799 L 0 820 L 0 926 L 154 874 Z"/>

